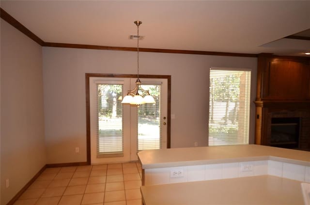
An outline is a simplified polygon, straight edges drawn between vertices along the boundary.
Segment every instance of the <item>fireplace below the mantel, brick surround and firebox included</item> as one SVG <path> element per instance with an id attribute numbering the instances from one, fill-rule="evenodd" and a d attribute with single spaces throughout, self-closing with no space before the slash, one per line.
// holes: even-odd
<path id="1" fill-rule="evenodd" d="M 255 103 L 255 144 L 310 151 L 310 102 Z"/>

